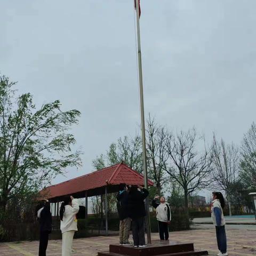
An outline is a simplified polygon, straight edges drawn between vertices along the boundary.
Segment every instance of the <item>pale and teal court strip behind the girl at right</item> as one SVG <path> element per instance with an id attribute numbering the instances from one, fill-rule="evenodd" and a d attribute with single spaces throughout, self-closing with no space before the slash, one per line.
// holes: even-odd
<path id="1" fill-rule="evenodd" d="M 236 224 L 244 224 L 250 223 L 252 225 L 256 225 L 256 220 L 254 215 L 240 215 L 240 216 L 225 216 L 226 223 L 236 223 Z M 194 223 L 212 223 L 212 218 L 195 218 L 193 220 Z"/>

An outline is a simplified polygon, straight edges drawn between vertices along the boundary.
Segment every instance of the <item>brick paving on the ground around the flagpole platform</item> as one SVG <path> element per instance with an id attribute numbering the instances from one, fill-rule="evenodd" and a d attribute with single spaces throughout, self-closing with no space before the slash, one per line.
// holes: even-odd
<path id="1" fill-rule="evenodd" d="M 256 255 L 256 231 L 228 229 L 228 252 L 230 256 Z M 153 233 L 152 239 L 158 239 Z M 218 252 L 214 229 L 199 229 L 171 232 L 170 239 L 184 243 L 193 242 L 195 249 L 207 250 L 210 255 Z M 90 237 L 74 239 L 73 256 L 96 256 L 98 251 L 108 250 L 109 244 L 118 243 L 117 236 Z M 0 243 L 1 256 L 36 256 L 38 255 L 38 241 Z M 47 256 L 61 255 L 61 240 L 51 240 L 47 248 Z"/>

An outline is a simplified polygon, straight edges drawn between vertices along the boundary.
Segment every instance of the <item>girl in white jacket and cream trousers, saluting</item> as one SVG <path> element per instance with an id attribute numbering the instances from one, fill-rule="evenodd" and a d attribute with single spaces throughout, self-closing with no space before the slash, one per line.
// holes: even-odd
<path id="1" fill-rule="evenodd" d="M 62 256 L 71 256 L 73 237 L 77 231 L 76 214 L 79 211 L 78 200 L 66 196 L 60 206 L 60 230 L 62 233 Z"/>

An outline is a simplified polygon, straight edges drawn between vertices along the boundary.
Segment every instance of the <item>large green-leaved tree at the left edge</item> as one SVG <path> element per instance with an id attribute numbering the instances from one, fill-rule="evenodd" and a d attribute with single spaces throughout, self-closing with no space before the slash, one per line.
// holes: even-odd
<path id="1" fill-rule="evenodd" d="M 68 133 L 78 110 L 61 111 L 56 100 L 36 110 L 30 93 L 15 98 L 15 83 L 0 76 L 0 206 L 37 191 L 67 166 L 81 164 L 76 141 Z M 0 209 L 0 210 L 1 210 Z"/>

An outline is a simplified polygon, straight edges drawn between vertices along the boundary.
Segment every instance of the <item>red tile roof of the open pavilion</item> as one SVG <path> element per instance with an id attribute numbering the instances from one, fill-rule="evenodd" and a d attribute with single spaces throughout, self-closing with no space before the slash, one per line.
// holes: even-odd
<path id="1" fill-rule="evenodd" d="M 67 180 L 56 185 L 44 188 L 40 194 L 47 194 L 47 198 L 60 197 L 78 192 L 105 187 L 106 185 L 143 185 L 143 176 L 132 170 L 129 166 L 120 163 L 95 171 L 75 179 Z M 148 185 L 153 182 L 148 180 Z"/>

